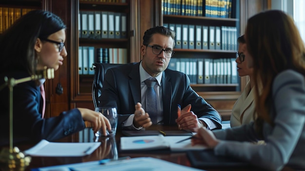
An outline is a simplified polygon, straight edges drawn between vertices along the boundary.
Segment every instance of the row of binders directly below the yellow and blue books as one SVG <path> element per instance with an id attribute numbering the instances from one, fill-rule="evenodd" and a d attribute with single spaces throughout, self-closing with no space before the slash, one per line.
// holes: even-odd
<path id="1" fill-rule="evenodd" d="M 172 23 L 163 26 L 176 32 L 175 49 L 238 49 L 236 27 Z"/>

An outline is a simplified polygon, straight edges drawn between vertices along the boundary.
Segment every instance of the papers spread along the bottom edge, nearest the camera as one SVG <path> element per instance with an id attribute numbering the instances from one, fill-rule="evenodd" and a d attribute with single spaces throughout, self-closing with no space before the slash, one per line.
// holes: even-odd
<path id="1" fill-rule="evenodd" d="M 152 157 L 138 157 L 128 160 L 99 164 L 98 161 L 51 166 L 31 171 L 202 171 Z"/>

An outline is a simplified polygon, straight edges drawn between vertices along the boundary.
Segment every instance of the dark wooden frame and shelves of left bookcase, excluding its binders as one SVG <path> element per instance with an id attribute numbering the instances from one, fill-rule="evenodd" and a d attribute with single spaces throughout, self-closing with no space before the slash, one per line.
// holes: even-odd
<path id="1" fill-rule="evenodd" d="M 101 1 L 85 1 L 76 0 L 73 5 L 72 20 L 74 23 L 72 42 L 74 60 L 71 60 L 71 107 L 85 107 L 94 110 L 92 100 L 92 83 L 93 75 L 81 75 L 78 72 L 78 47 L 91 46 L 96 48 L 126 48 L 127 62 L 139 61 L 139 40 L 137 30 L 139 27 L 137 14 L 137 0 L 121 0 L 113 2 Z M 79 35 L 78 28 L 78 14 L 82 12 L 109 12 L 109 13 L 123 13 L 126 15 L 126 37 L 125 38 L 82 38 Z M 80 16 L 81 17 L 81 16 Z M 101 28 L 102 29 L 102 28 Z M 101 33 L 103 34 L 103 32 Z M 95 52 L 96 53 L 96 52 Z"/>

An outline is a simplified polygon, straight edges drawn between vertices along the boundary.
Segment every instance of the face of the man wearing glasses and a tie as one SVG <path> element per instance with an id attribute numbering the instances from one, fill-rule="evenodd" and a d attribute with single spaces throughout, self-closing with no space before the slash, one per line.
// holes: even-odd
<path id="1" fill-rule="evenodd" d="M 148 45 L 172 50 L 173 39 L 172 37 L 167 37 L 157 33 L 152 35 L 152 41 Z M 155 77 L 167 68 L 171 58 L 165 57 L 164 51 L 159 55 L 154 54 L 152 52 L 152 47 L 149 46 L 141 46 L 141 56 L 143 57 L 142 66 L 148 74 Z"/>

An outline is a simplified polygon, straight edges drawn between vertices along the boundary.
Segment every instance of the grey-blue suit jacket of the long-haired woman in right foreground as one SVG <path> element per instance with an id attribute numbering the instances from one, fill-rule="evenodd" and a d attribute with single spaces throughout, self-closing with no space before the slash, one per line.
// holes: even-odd
<path id="1" fill-rule="evenodd" d="M 305 79 L 293 70 L 278 74 L 272 85 L 274 126 L 264 123 L 266 145 L 243 141 L 258 139 L 253 122 L 248 125 L 213 132 L 223 139 L 215 147 L 217 155 L 240 158 L 268 170 L 281 170 L 284 165 L 305 169 Z M 239 142 L 237 142 L 239 141 Z"/>

